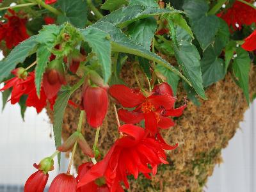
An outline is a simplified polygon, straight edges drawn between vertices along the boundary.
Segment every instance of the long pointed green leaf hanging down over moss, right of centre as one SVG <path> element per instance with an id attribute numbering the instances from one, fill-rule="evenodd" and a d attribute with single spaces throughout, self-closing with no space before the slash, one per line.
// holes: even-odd
<path id="1" fill-rule="evenodd" d="M 175 57 L 196 93 L 202 99 L 206 99 L 200 67 L 200 54 L 195 45 L 191 44 L 191 36 L 184 29 L 177 27 L 176 33 L 179 45 L 178 47 L 174 46 Z"/>

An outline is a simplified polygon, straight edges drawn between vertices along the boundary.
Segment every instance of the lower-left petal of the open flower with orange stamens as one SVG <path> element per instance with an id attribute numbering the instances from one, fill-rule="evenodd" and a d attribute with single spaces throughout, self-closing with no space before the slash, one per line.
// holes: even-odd
<path id="1" fill-rule="evenodd" d="M 141 120 L 144 119 L 143 113 L 138 113 L 135 111 L 127 111 L 125 109 L 120 109 L 118 111 L 118 116 L 120 120 L 125 122 L 126 124 L 138 124 Z"/>

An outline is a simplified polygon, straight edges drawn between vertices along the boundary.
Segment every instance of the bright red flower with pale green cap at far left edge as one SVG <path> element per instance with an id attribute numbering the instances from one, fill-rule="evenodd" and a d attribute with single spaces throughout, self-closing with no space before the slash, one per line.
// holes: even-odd
<path id="1" fill-rule="evenodd" d="M 15 75 L 15 77 L 5 81 L 5 85 L 0 91 L 12 88 L 10 100 L 11 104 L 16 104 L 19 102 L 22 95 L 28 94 L 33 89 L 34 76 L 33 74 L 26 72 L 24 68 L 16 68 L 15 70 L 12 70 L 12 74 Z"/>

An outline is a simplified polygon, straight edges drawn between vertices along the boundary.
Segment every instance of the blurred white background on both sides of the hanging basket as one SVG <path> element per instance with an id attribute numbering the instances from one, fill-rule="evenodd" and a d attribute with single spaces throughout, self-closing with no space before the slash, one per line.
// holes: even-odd
<path id="1" fill-rule="evenodd" d="M 0 102 L 0 109 L 2 106 Z M 224 163 L 216 165 L 205 191 L 256 191 L 255 112 L 256 102 L 253 102 L 244 115 L 241 129 L 237 130 L 228 147 L 222 151 Z M 34 108 L 27 109 L 23 122 L 19 105 L 12 106 L 9 102 L 3 113 L 0 113 L 0 122 L 0 192 L 23 191 L 29 175 L 36 171 L 33 163 L 39 163 L 55 151 L 54 139 L 51 137 L 52 125 L 46 111 L 37 115 Z M 50 172 L 48 183 L 58 173 L 67 171 L 68 159 L 65 156 L 61 159 L 60 170 L 55 161 L 55 169 Z"/>

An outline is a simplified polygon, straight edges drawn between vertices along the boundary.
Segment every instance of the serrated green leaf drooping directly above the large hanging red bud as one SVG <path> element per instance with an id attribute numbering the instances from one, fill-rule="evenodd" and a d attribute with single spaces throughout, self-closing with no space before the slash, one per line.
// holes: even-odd
<path id="1" fill-rule="evenodd" d="M 108 82 L 111 76 L 111 44 L 108 33 L 93 27 L 86 28 L 81 33 L 99 59 L 103 68 L 104 81 Z"/>

